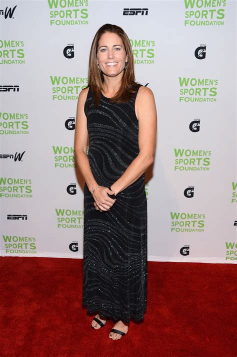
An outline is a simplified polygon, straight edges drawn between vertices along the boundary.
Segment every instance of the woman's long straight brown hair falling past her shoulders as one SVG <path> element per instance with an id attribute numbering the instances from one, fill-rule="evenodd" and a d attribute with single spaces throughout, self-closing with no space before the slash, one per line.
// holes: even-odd
<path id="1" fill-rule="evenodd" d="M 135 92 L 135 89 L 138 83 L 135 82 L 134 76 L 134 60 L 133 54 L 131 50 L 130 41 L 126 35 L 126 33 L 116 25 L 105 24 L 101 26 L 96 32 L 89 53 L 89 70 L 88 70 L 88 85 L 93 93 L 94 104 L 95 106 L 99 103 L 100 92 L 102 90 L 102 83 L 104 81 L 102 72 L 99 73 L 97 62 L 96 62 L 96 54 L 98 48 L 98 41 L 100 37 L 105 33 L 110 32 L 118 35 L 125 48 L 125 52 L 127 54 L 127 65 L 126 69 L 123 70 L 123 75 L 121 79 L 121 86 L 114 97 L 109 98 L 112 103 L 126 103 L 131 99 L 132 93 Z"/>

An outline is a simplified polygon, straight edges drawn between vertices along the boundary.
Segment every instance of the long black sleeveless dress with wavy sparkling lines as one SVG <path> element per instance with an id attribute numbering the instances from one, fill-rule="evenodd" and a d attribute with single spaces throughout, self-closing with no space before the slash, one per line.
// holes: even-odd
<path id="1" fill-rule="evenodd" d="M 137 90 L 140 85 L 138 85 Z M 95 181 L 109 187 L 139 152 L 138 120 L 132 99 L 111 104 L 89 89 L 84 105 L 88 161 Z M 109 211 L 96 211 L 84 185 L 82 305 L 114 320 L 143 319 L 147 296 L 147 201 L 144 173 L 116 195 Z"/>

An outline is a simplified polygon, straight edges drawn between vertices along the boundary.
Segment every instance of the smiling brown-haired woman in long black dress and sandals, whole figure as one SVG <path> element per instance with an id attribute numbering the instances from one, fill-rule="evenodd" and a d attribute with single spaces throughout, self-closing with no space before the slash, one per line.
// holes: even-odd
<path id="1" fill-rule="evenodd" d="M 120 27 L 103 25 L 90 49 L 88 86 L 78 97 L 74 149 L 85 181 L 82 304 L 97 312 L 93 328 L 114 320 L 112 339 L 146 310 L 144 172 L 155 142 L 154 97 L 134 81 L 129 39 Z"/>

